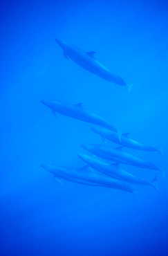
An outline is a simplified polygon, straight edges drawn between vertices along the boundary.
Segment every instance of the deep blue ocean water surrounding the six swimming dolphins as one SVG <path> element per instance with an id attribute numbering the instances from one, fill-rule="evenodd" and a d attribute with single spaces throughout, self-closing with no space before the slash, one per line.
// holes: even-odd
<path id="1" fill-rule="evenodd" d="M 0 255 L 168 255 L 167 1 L 1 3 Z M 55 37 L 133 84 L 113 84 L 66 60 Z M 152 181 L 135 194 L 62 180 L 40 167 L 80 168 L 81 143 L 102 143 L 93 125 L 57 114 L 42 99 L 82 102 L 130 138 L 158 152 L 124 148 L 165 168 L 122 168 Z M 109 142 L 111 147 L 118 145 Z"/>

